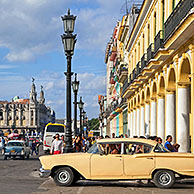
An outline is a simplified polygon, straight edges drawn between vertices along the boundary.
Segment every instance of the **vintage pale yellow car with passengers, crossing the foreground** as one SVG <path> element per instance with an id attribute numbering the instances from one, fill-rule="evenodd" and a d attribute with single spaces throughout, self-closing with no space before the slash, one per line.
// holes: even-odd
<path id="1" fill-rule="evenodd" d="M 97 141 L 87 153 L 41 156 L 40 176 L 57 185 L 87 180 L 152 180 L 170 188 L 178 179 L 194 177 L 194 154 L 169 152 L 155 141 L 114 138 Z"/>

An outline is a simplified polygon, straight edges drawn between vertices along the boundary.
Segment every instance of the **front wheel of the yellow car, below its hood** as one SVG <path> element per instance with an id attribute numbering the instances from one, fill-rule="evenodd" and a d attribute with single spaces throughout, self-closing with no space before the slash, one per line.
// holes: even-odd
<path id="1" fill-rule="evenodd" d="M 53 177 L 56 185 L 70 186 L 74 181 L 74 173 L 69 167 L 60 168 Z"/>

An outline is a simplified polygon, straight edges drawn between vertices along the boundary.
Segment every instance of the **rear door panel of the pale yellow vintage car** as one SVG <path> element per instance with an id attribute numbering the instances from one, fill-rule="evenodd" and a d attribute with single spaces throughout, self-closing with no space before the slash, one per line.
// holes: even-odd
<path id="1" fill-rule="evenodd" d="M 137 146 L 137 144 L 135 145 Z M 149 178 L 155 168 L 155 157 L 153 153 L 135 153 L 135 151 L 130 154 L 125 153 L 123 154 L 123 165 L 125 176 L 129 178 Z"/>

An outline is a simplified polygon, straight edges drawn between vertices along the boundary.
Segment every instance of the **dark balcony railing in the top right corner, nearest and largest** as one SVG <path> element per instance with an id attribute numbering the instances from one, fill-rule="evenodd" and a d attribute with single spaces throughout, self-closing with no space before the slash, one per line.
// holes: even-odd
<path id="1" fill-rule="evenodd" d="M 194 7 L 193 0 L 180 0 L 173 12 L 170 14 L 164 24 L 164 40 L 174 32 L 175 28 L 180 24 L 182 19 Z"/>

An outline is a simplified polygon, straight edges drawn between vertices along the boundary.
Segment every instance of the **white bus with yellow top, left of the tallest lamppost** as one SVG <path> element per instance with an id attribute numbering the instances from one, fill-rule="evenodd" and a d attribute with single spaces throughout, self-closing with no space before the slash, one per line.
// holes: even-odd
<path id="1" fill-rule="evenodd" d="M 65 125 L 58 123 L 48 123 L 44 129 L 43 137 L 43 150 L 45 152 L 50 152 L 52 141 L 56 134 L 65 136 Z"/>

